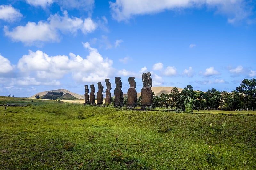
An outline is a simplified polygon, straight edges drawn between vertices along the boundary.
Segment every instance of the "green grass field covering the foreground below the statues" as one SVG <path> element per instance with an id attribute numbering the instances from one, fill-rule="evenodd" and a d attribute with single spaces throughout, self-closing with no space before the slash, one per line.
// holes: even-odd
<path id="1" fill-rule="evenodd" d="M 0 106 L 0 169 L 256 169 L 256 112 L 199 112 Z"/>

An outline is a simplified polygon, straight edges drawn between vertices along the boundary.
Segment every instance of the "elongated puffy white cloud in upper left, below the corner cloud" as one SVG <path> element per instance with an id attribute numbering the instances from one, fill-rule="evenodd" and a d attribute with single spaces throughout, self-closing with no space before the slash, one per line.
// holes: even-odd
<path id="1" fill-rule="evenodd" d="M 91 33 L 96 29 L 96 23 L 91 18 L 84 21 L 80 18 L 69 17 L 67 11 L 63 11 L 63 16 L 59 14 L 51 15 L 47 21 L 28 22 L 26 26 L 17 26 L 9 31 L 4 26 L 5 35 L 13 41 L 21 41 L 25 45 L 41 45 L 43 42 L 60 41 L 59 31 L 66 33 L 76 33 L 82 30 L 83 33 Z"/>

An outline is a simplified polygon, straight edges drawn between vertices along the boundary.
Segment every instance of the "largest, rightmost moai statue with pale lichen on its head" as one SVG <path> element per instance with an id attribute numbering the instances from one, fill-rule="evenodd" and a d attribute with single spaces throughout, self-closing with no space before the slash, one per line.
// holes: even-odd
<path id="1" fill-rule="evenodd" d="M 143 87 L 141 89 L 141 108 L 146 109 L 146 107 L 151 108 L 153 106 L 153 92 L 151 73 L 142 74 Z"/>

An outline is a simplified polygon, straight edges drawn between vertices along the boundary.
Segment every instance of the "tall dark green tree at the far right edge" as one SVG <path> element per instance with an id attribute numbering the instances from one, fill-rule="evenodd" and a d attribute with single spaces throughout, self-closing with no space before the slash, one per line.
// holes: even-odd
<path id="1" fill-rule="evenodd" d="M 256 107 L 256 80 L 255 78 L 244 79 L 239 87 L 236 87 L 240 99 L 245 108 Z"/>

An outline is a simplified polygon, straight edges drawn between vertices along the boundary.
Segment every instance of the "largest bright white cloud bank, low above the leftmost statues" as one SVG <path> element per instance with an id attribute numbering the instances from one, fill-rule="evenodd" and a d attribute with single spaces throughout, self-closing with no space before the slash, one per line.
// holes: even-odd
<path id="1" fill-rule="evenodd" d="M 42 85 L 47 79 L 47 82 L 49 80 L 58 85 L 58 79 L 67 74 L 71 74 L 78 82 L 100 82 L 113 75 L 112 60 L 103 59 L 98 50 L 90 47 L 88 42 L 82 44 L 89 52 L 85 59 L 73 53 L 69 53 L 69 57 L 48 56 L 40 50 L 29 50 L 28 55 L 23 55 L 17 64 L 22 75 L 27 77 L 20 80 L 20 84 Z"/>

